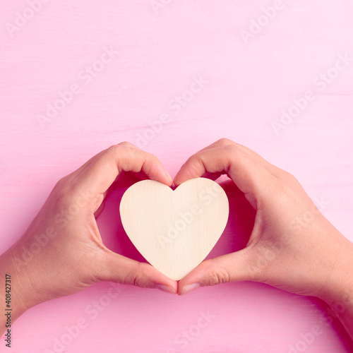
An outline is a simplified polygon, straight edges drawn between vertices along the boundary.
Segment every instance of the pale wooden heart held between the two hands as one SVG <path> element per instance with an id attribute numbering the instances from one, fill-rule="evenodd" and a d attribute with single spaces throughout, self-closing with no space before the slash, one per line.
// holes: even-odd
<path id="1" fill-rule="evenodd" d="M 228 215 L 225 191 L 206 178 L 185 181 L 174 191 L 159 181 L 138 181 L 120 203 L 121 223 L 133 245 L 172 280 L 180 280 L 208 256 Z"/>

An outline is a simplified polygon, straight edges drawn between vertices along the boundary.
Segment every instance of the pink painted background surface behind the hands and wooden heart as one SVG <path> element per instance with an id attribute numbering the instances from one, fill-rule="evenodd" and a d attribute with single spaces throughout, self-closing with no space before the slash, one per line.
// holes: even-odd
<path id="1" fill-rule="evenodd" d="M 267 11 L 270 20 L 264 10 L 279 1 L 155 2 L 165 5 L 1 1 L 0 251 L 23 234 L 57 179 L 109 145 L 139 143 L 174 176 L 189 155 L 222 137 L 292 172 L 353 241 L 353 61 L 335 71 L 340 55 L 353 57 L 352 1 L 284 1 L 275 14 Z M 21 22 L 21 14 L 28 20 Z M 241 30 L 253 24 L 256 31 L 258 20 L 263 26 L 244 41 Z M 21 27 L 11 30 L 16 21 Z M 95 62 L 111 46 L 114 59 Z M 92 65 L 100 71 L 95 77 L 83 73 Z M 331 78 L 324 85 L 326 72 Z M 191 97 L 186 91 L 200 76 L 208 83 Z M 79 93 L 41 126 L 38 114 L 71 85 Z M 314 99 L 275 133 L 272 122 L 282 110 L 295 113 L 293 100 L 308 90 Z M 189 102 L 177 112 L 172 101 L 183 94 Z M 151 133 L 149 124 L 161 114 L 171 121 Z M 141 143 L 139 133 L 150 140 Z M 141 258 L 120 232 L 122 191 L 111 196 L 98 223 L 110 249 Z M 232 220 L 210 256 L 241 249 L 251 232 L 250 206 L 232 193 L 229 201 Z M 13 328 L 11 352 L 274 353 L 291 345 L 349 352 L 340 323 L 323 321 L 325 304 L 267 285 L 240 282 L 185 297 L 119 286 L 107 304 L 109 287 L 102 283 L 31 309 Z M 95 301 L 107 305 L 93 318 L 87 308 Z M 214 317 L 198 329 L 201 311 Z M 55 350 L 55 340 L 70 341 L 66 326 L 79 319 L 87 327 Z M 321 335 L 306 344 L 302 335 L 315 325 Z M 183 330 L 195 333 L 186 347 L 176 341 Z"/>

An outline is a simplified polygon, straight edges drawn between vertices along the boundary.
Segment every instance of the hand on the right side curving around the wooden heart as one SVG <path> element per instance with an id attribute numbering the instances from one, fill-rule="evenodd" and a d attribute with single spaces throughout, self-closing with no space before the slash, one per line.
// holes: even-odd
<path id="1" fill-rule="evenodd" d="M 353 315 L 353 244 L 321 214 L 297 179 L 249 148 L 222 139 L 190 157 L 174 184 L 220 174 L 227 174 L 256 210 L 253 232 L 245 249 L 198 265 L 179 281 L 178 294 L 252 280 L 328 304 L 348 298 Z M 352 317 L 349 325 L 352 334 Z"/>

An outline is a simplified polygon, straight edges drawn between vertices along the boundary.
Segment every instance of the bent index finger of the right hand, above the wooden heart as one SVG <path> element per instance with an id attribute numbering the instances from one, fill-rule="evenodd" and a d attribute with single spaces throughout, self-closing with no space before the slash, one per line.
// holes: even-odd
<path id="1" fill-rule="evenodd" d="M 174 184 L 178 186 L 205 172 L 227 174 L 256 209 L 258 203 L 273 193 L 275 186 L 273 174 L 237 144 L 211 148 L 191 156 L 175 176 Z"/>

